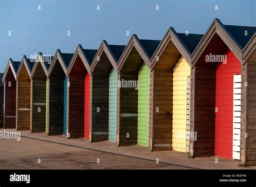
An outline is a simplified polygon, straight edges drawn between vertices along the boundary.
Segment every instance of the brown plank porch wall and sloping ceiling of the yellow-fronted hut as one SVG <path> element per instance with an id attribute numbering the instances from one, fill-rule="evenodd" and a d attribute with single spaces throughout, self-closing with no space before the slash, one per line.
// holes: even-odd
<path id="1" fill-rule="evenodd" d="M 180 57 L 176 46 L 170 42 L 153 69 L 150 88 L 152 150 L 172 148 L 173 68 Z"/>

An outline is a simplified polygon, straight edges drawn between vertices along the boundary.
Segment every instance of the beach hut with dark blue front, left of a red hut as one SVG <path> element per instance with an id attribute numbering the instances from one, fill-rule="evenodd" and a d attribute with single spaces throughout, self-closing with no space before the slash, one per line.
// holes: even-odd
<path id="1" fill-rule="evenodd" d="M 67 68 L 73 53 L 62 53 L 59 49 L 52 59 L 46 83 L 46 134 L 66 135 L 66 106 L 68 79 Z"/>

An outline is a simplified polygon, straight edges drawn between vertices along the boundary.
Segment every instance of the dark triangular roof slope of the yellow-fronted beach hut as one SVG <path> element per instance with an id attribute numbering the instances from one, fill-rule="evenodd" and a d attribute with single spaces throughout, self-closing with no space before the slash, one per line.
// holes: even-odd
<path id="1" fill-rule="evenodd" d="M 185 33 L 178 33 L 178 36 L 183 41 L 183 43 L 186 45 L 187 49 L 189 50 L 188 53 L 190 55 L 193 53 L 194 49 L 196 49 L 199 41 L 204 36 L 203 34 L 188 34 Z"/>

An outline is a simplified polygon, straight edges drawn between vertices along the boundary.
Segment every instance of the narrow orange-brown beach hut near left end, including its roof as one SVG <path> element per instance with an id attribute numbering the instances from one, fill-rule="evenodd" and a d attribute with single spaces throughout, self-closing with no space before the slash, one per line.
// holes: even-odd
<path id="1" fill-rule="evenodd" d="M 16 81 L 16 130 L 30 130 L 30 80 L 35 59 L 23 56 Z"/>

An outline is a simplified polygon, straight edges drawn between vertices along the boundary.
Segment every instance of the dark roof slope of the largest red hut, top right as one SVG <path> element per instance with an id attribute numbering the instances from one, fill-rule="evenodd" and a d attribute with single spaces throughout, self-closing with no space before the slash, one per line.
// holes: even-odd
<path id="1" fill-rule="evenodd" d="M 231 33 L 231 35 L 238 41 L 242 48 L 246 46 L 248 41 L 256 32 L 256 27 L 254 26 L 225 25 L 225 27 Z M 247 36 L 245 36 L 245 31 L 247 31 Z"/>

